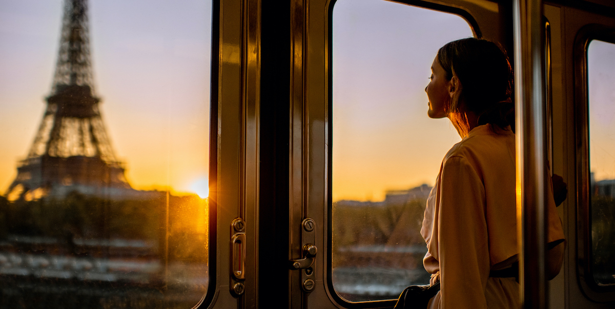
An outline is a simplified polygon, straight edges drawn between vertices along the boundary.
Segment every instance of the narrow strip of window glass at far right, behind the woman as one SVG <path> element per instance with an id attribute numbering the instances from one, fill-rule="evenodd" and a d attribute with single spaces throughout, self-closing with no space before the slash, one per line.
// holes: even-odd
<path id="1" fill-rule="evenodd" d="M 615 44 L 592 41 L 589 80 L 589 168 L 593 279 L 615 284 Z"/>

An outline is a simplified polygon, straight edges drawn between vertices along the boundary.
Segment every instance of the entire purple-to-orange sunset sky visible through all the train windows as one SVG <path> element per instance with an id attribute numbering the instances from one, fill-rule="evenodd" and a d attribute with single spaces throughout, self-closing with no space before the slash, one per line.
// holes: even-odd
<path id="1" fill-rule="evenodd" d="M 207 188 L 211 4 L 90 0 L 95 90 L 116 156 L 134 188 Z M 25 158 L 50 94 L 62 0 L 0 1 L 0 193 Z M 439 47 L 472 36 L 453 14 L 378 0 L 333 10 L 333 200 L 379 201 L 433 185 L 459 142 L 427 118 L 425 87 Z M 590 45 L 592 170 L 615 178 L 615 49 Z M 611 59 L 592 64 L 592 59 Z"/>

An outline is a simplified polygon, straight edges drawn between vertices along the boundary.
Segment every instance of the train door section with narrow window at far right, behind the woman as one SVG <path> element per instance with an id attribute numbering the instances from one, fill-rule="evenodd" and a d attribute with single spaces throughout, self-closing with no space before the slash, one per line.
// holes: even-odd
<path id="1" fill-rule="evenodd" d="M 613 124 L 606 116 L 613 99 L 603 85 L 613 80 L 607 70 L 614 59 L 614 6 L 547 2 L 544 16 L 552 63 L 547 79 L 553 106 L 552 171 L 563 175 L 569 192 L 558 207 L 568 249 L 560 275 L 550 282 L 550 301 L 552 308 L 610 308 L 615 290 L 613 270 L 606 265 L 612 265 L 614 257 L 605 243 L 615 232 L 605 225 L 613 207 L 605 189 L 615 177 L 606 159 L 613 143 L 605 137 L 612 130 L 605 126 Z"/>

